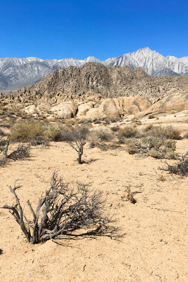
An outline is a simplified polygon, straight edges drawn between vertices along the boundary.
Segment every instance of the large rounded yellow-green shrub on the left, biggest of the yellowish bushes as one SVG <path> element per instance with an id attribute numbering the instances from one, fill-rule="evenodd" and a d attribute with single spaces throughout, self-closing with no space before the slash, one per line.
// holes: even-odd
<path id="1" fill-rule="evenodd" d="M 37 120 L 27 120 L 17 123 L 11 128 L 10 140 L 31 142 L 41 141 L 43 139 L 45 128 Z"/>

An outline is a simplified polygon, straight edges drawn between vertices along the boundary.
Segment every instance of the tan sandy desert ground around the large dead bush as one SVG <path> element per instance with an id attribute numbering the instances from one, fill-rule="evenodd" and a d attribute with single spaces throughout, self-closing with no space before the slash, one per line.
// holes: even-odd
<path id="1" fill-rule="evenodd" d="M 177 150 L 183 146 L 187 140 L 177 141 Z M 137 159 L 123 150 L 85 146 L 83 160 L 95 161 L 78 165 L 76 158 L 69 145 L 52 143 L 49 149 L 32 148 L 29 160 L 11 161 L 0 168 L 0 206 L 14 202 L 7 185 L 20 179 L 17 195 L 31 219 L 25 203 L 30 199 L 36 208 L 56 169 L 70 185 L 78 179 L 103 190 L 124 237 L 115 240 L 79 230 L 32 245 L 8 210 L 1 209 L 0 281 L 188 281 L 188 178 L 163 172 L 162 182 L 157 168 L 164 160 Z M 126 185 L 142 192 L 134 196 L 136 204 L 122 200 Z"/>

